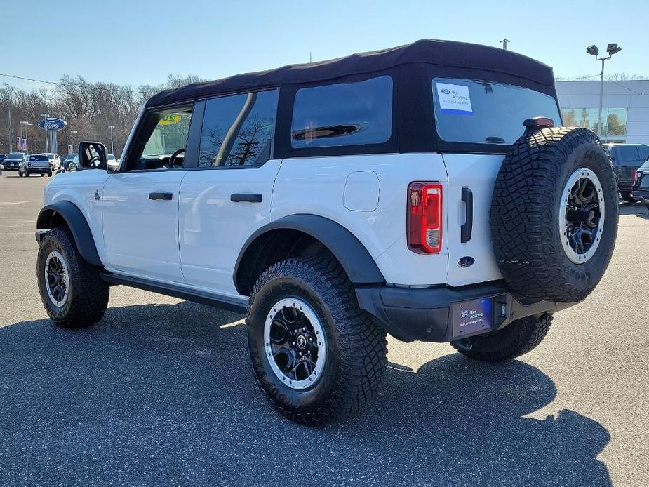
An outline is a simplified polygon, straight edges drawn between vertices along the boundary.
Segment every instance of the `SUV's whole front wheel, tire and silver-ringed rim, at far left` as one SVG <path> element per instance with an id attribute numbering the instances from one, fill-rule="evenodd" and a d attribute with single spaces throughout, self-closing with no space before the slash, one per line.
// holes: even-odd
<path id="1" fill-rule="evenodd" d="M 69 229 L 51 229 L 43 237 L 36 271 L 41 300 L 58 326 L 81 328 L 102 319 L 110 288 L 99 268 L 81 257 Z"/>

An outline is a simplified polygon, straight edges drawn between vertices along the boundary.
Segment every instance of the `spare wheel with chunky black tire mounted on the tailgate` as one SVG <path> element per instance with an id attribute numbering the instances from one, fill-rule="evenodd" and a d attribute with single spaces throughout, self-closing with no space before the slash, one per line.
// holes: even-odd
<path id="1" fill-rule="evenodd" d="M 608 267 L 617 214 L 615 174 L 594 133 L 526 131 L 502 162 L 491 202 L 503 278 L 524 297 L 583 300 Z"/>

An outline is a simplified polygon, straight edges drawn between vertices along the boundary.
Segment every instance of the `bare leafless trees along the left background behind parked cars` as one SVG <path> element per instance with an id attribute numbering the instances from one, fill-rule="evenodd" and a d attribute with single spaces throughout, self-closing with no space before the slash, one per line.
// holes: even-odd
<path id="1" fill-rule="evenodd" d="M 16 150 L 20 136 L 20 121 L 34 125 L 29 130 L 29 152 L 45 151 L 45 133 L 37 126 L 41 114 L 63 119 L 67 126 L 58 133 L 58 153 L 67 155 L 70 135 L 74 145 L 79 140 L 103 142 L 110 149 L 110 125 L 113 129 L 114 152 L 121 155 L 126 138 L 142 105 L 155 93 L 167 88 L 178 88 L 195 81 L 198 76 L 170 74 L 167 81 L 158 85 L 121 86 L 112 83 L 90 83 L 82 76 L 63 76 L 55 88 L 19 90 L 9 84 L 0 87 L 0 154 L 8 151 L 7 99 L 11 102 L 11 147 Z M 72 134 L 71 131 L 77 131 Z"/>

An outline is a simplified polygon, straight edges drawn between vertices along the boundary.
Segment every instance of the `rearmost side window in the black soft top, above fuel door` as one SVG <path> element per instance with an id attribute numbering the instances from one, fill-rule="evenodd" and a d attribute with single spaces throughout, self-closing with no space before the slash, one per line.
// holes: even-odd
<path id="1" fill-rule="evenodd" d="M 387 142 L 392 136 L 392 78 L 297 90 L 290 130 L 295 149 Z"/>

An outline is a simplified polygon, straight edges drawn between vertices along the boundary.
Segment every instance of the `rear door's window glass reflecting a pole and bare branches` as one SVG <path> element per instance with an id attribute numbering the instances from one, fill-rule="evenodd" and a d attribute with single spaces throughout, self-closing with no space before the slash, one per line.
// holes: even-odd
<path id="1" fill-rule="evenodd" d="M 276 106 L 277 90 L 208 100 L 199 167 L 264 164 L 271 154 Z"/>

